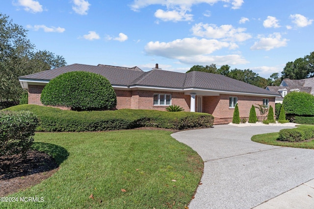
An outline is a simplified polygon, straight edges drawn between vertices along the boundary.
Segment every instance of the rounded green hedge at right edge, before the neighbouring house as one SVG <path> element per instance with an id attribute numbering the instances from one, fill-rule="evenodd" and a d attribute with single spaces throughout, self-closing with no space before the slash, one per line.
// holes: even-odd
<path id="1" fill-rule="evenodd" d="M 305 92 L 288 93 L 283 101 L 286 114 L 314 116 L 314 96 Z"/>

